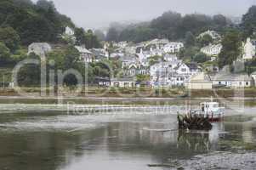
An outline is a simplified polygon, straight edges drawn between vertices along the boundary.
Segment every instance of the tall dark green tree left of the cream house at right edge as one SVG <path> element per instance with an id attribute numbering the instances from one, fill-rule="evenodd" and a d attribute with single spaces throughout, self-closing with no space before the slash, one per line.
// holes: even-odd
<path id="1" fill-rule="evenodd" d="M 222 68 L 225 65 L 232 65 L 242 54 L 242 38 L 241 33 L 236 30 L 229 30 L 225 33 L 225 37 L 222 40 L 223 48 L 219 54 L 219 67 Z"/>

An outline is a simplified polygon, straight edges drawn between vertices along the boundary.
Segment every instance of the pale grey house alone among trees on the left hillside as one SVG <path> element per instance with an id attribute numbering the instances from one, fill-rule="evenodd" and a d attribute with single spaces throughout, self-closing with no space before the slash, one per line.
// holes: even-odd
<path id="1" fill-rule="evenodd" d="M 40 57 L 45 57 L 51 51 L 52 48 L 47 42 L 33 42 L 28 46 L 28 54 L 34 53 Z"/>

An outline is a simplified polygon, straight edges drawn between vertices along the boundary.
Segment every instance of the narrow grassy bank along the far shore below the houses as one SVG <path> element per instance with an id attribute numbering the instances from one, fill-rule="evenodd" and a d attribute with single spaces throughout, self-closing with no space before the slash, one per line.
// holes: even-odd
<path id="1" fill-rule="evenodd" d="M 41 88 L 21 88 L 28 95 L 41 92 Z M 53 93 L 52 88 L 45 88 L 46 94 Z M 60 94 L 65 97 L 74 94 L 75 90 L 71 88 L 61 88 Z M 56 93 L 54 95 L 57 95 Z M 13 88 L 0 88 L 0 96 L 19 96 Z M 213 90 L 187 90 L 185 88 L 82 88 L 80 97 L 123 97 L 123 98 L 208 98 L 208 97 L 256 97 L 256 88 L 245 89 L 213 89 Z"/>

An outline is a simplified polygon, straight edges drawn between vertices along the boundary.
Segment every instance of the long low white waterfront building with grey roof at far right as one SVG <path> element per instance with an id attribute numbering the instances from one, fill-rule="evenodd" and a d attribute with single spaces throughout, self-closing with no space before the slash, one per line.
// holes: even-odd
<path id="1" fill-rule="evenodd" d="M 219 72 L 211 77 L 214 87 L 226 88 L 249 88 L 253 85 L 252 77 L 246 74 L 230 74 L 226 72 Z"/>

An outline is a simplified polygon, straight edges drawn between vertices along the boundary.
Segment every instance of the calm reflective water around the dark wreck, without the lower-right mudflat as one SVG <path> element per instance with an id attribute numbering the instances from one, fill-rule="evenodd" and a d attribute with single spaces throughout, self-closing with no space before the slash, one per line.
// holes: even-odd
<path id="1" fill-rule="evenodd" d="M 4 118 L 6 117 L 6 118 Z M 214 123 L 208 132 L 177 130 L 176 116 L 129 116 L 117 120 L 88 119 L 83 116 L 23 115 L 20 129 L 0 127 L 0 167 L 19 170 L 150 169 L 149 164 L 172 164 L 175 160 L 225 150 L 219 141 L 255 143 L 255 120 L 227 120 Z M 13 122 L 12 122 L 13 120 Z M 47 121 L 46 121 L 47 120 Z M 52 121 L 51 121 L 52 120 Z M 55 126 L 52 126 L 53 120 Z M 108 120 L 108 121 L 107 121 Z M 12 116 L 1 116 L 1 123 L 13 125 Z M 31 123 L 27 128 L 25 122 Z M 54 128 L 71 123 L 84 126 L 76 131 L 36 126 L 43 122 Z M 77 123 L 79 122 L 79 123 Z M 94 124 L 94 127 L 87 126 Z M 22 127 L 23 126 L 23 127 Z M 164 131 L 169 129 L 171 131 Z M 230 132 L 230 133 L 225 133 Z M 154 169 L 167 167 L 156 167 Z"/>

